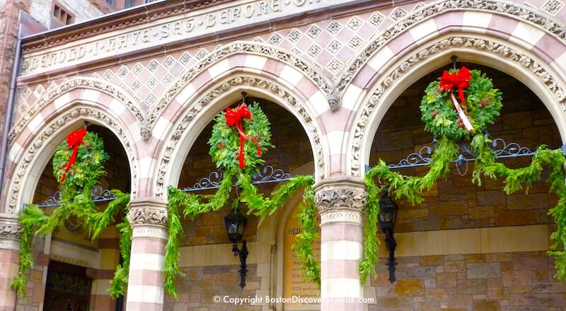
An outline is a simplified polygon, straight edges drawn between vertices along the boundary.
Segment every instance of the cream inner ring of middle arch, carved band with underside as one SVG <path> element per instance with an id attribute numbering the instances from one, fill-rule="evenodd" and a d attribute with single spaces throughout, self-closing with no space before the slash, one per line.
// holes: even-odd
<path id="1" fill-rule="evenodd" d="M 161 153 L 156 158 L 156 173 L 154 177 L 154 194 L 165 196 L 168 184 L 176 184 L 180 174 L 173 174 L 173 168 L 182 166 L 186 155 L 190 151 L 196 136 L 209 123 L 216 113 L 226 107 L 228 102 L 236 100 L 240 92 L 246 90 L 250 95 L 267 98 L 286 108 L 304 127 L 311 148 L 315 164 L 315 176 L 323 179 L 327 168 L 325 157 L 328 156 L 323 146 L 323 131 L 316 122 L 310 107 L 306 107 L 308 100 L 302 93 L 297 93 L 282 85 L 279 81 L 253 74 L 228 75 L 214 86 L 207 88 L 202 95 L 187 99 L 190 102 L 175 123 L 163 129 L 164 134 L 158 150 Z M 155 131 L 154 131 L 155 132 Z M 193 133 L 192 136 L 189 133 Z M 180 143 L 183 142 L 183 143 Z"/>

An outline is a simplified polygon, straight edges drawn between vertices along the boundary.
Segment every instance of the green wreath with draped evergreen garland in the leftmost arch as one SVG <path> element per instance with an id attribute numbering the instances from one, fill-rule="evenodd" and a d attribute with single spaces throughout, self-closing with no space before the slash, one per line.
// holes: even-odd
<path id="1" fill-rule="evenodd" d="M 96 239 L 104 228 L 114 221 L 120 212 L 120 207 L 124 214 L 127 214 L 127 204 L 129 194 L 124 194 L 119 190 L 112 190 L 115 200 L 108 204 L 105 211 L 99 212 L 92 200 L 92 189 L 98 184 L 98 179 L 105 175 L 103 162 L 108 159 L 108 154 L 104 151 L 104 143 L 96 134 L 87 133 L 83 139 L 84 143 L 78 148 L 76 163 L 67 177 L 60 184 L 61 204 L 54 209 L 51 216 L 35 204 L 24 207 L 21 211 L 19 223 L 23 227 L 21 233 L 21 249 L 19 259 L 18 276 L 8 284 L 9 288 L 14 288 L 20 297 L 25 296 L 25 285 L 27 283 L 26 274 L 32 268 L 35 258 L 31 253 L 33 237 L 35 235 L 45 236 L 56 228 L 64 224 L 70 216 L 76 216 L 83 221 L 83 228 L 88 230 L 92 240 Z M 53 175 L 57 180 L 61 180 L 67 166 L 67 161 L 71 157 L 71 149 L 67 146 L 67 141 L 63 141 L 57 146 L 53 156 Z M 117 225 L 120 229 L 120 252 L 122 253 L 123 264 L 117 266 L 115 278 L 112 280 L 110 293 L 112 297 L 117 297 L 125 293 L 129 267 L 129 250 L 131 246 L 132 228 L 124 217 L 124 221 Z"/>

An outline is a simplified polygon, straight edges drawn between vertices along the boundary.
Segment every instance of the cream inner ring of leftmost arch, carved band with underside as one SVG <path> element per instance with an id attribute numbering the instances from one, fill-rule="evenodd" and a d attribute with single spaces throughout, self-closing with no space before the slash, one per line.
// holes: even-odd
<path id="1" fill-rule="evenodd" d="M 37 184 L 42 169 L 45 168 L 47 161 L 54 153 L 57 145 L 64 140 L 69 130 L 83 124 L 84 121 L 99 124 L 107 127 L 122 143 L 131 173 L 131 194 L 136 197 L 138 187 L 139 165 L 137 150 L 134 146 L 134 139 L 127 131 L 127 124 L 123 124 L 120 119 L 111 115 L 100 107 L 92 105 L 76 104 L 67 110 L 58 112 L 48 124 L 42 126 L 30 137 L 30 143 L 15 151 L 15 146 L 11 147 L 8 160 L 8 172 L 6 174 L 6 204 L 4 213 L 18 213 L 21 206 L 30 203 L 33 199 L 35 187 L 30 185 Z"/>

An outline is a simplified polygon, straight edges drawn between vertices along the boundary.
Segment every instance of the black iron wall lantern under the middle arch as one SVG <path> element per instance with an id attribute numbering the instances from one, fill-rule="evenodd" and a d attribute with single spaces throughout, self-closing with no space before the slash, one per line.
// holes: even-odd
<path id="1" fill-rule="evenodd" d="M 240 287 L 246 287 L 246 259 L 248 259 L 248 245 L 246 240 L 243 240 L 243 233 L 246 230 L 246 223 L 248 218 L 240 213 L 237 205 L 232 211 L 224 217 L 224 224 L 226 224 L 226 233 L 232 242 L 232 252 L 234 257 L 240 257 Z M 238 249 L 238 242 L 242 242 L 242 248 Z"/>

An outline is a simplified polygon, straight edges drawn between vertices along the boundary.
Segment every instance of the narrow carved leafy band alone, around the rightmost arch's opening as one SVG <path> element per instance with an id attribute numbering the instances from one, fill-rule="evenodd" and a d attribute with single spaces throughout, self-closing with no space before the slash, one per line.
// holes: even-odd
<path id="1" fill-rule="evenodd" d="M 466 49 L 476 49 L 482 52 L 489 52 L 499 57 L 514 61 L 518 66 L 527 69 L 531 72 L 531 76 L 540 81 L 556 98 L 558 105 L 562 108 L 566 107 L 566 93 L 556 80 L 548 71 L 539 64 L 536 60 L 532 59 L 526 54 L 523 54 L 512 47 L 507 47 L 499 42 L 490 40 L 478 39 L 473 37 L 454 36 L 447 37 L 433 45 L 421 49 L 413 54 L 395 69 L 389 71 L 386 76 L 383 76 L 378 82 L 377 88 L 374 93 L 366 100 L 364 106 L 361 107 L 362 114 L 358 118 L 356 127 L 354 128 L 354 139 L 352 141 L 352 158 L 350 160 L 351 172 L 354 176 L 360 176 L 360 153 L 362 152 L 362 141 L 366 134 L 366 127 L 369 122 L 370 116 L 375 107 L 381 101 L 383 93 L 386 93 L 395 81 L 399 81 L 405 74 L 416 64 L 425 61 L 435 54 L 444 52 L 453 48 L 465 47 Z"/>

